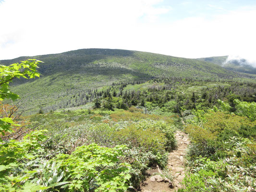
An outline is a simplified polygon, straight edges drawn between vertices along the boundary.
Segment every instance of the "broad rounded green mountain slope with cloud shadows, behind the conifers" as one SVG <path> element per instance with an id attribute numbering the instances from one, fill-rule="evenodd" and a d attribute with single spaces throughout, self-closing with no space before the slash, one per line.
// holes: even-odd
<path id="1" fill-rule="evenodd" d="M 246 74 L 230 72 L 202 60 L 120 49 L 79 49 L 1 60 L 0 64 L 8 65 L 31 58 L 44 62 L 39 69 L 41 78 L 15 81 L 12 89 L 25 98 L 27 107 L 32 110 L 37 110 L 39 106 L 57 105 L 78 93 L 118 82 L 147 81 L 155 77 L 202 80 L 246 77 Z"/>

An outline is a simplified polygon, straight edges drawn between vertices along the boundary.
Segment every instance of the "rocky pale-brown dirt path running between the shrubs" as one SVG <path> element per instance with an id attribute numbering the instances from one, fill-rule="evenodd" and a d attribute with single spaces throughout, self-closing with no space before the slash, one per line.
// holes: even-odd
<path id="1" fill-rule="evenodd" d="M 178 148 L 169 154 L 167 168 L 172 177 L 172 182 L 167 178 L 161 177 L 161 170 L 159 168 L 150 169 L 149 176 L 146 181 L 141 184 L 141 192 L 174 192 L 181 188 L 181 182 L 185 176 L 184 173 L 184 155 L 186 153 L 187 145 L 189 144 L 188 136 L 181 131 L 177 131 L 176 140 Z"/>

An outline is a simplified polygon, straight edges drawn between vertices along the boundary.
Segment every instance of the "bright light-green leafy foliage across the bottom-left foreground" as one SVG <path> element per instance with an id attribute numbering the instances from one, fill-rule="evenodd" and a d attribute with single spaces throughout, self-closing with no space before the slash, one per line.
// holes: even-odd
<path id="1" fill-rule="evenodd" d="M 1 147 L 0 190 L 38 191 L 65 188 L 66 191 L 125 191 L 130 168 L 120 157 L 124 146 L 77 147 L 71 155 L 60 154 L 50 161 L 39 154 L 46 139 L 33 132 L 22 142 L 10 141 Z"/>

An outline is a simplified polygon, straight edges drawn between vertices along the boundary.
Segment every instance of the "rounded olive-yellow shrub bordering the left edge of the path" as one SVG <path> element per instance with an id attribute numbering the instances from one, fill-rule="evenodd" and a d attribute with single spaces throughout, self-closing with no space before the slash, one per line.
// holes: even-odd
<path id="1" fill-rule="evenodd" d="M 148 166 L 167 164 L 168 153 L 176 147 L 174 129 L 164 121 L 140 120 L 115 132 L 116 140 L 130 146 L 125 152 L 132 166 L 132 184 L 139 187 Z"/>

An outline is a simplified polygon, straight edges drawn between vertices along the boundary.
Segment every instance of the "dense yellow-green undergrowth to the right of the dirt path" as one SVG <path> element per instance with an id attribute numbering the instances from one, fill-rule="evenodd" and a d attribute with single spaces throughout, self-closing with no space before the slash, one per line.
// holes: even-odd
<path id="1" fill-rule="evenodd" d="M 256 103 L 235 100 L 235 113 L 219 103 L 186 119 L 192 143 L 181 192 L 256 191 Z"/>

